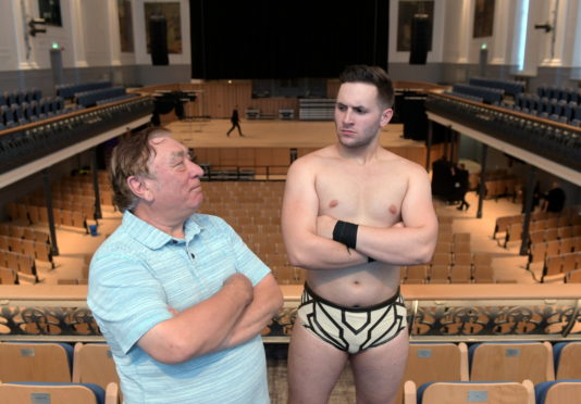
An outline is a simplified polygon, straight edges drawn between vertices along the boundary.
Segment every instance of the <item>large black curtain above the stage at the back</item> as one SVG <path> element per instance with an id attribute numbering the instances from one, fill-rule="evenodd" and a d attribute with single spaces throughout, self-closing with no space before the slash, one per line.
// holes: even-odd
<path id="1" fill-rule="evenodd" d="M 190 0 L 193 78 L 336 77 L 387 70 L 388 0 Z"/>

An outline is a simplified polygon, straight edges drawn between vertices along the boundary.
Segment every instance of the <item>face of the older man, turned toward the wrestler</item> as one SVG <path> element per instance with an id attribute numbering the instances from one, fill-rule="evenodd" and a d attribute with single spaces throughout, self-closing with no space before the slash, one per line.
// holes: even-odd
<path id="1" fill-rule="evenodd" d="M 188 150 L 172 138 L 150 140 L 156 155 L 150 161 L 148 188 L 156 207 L 193 214 L 203 201 L 203 169 L 189 160 Z"/>

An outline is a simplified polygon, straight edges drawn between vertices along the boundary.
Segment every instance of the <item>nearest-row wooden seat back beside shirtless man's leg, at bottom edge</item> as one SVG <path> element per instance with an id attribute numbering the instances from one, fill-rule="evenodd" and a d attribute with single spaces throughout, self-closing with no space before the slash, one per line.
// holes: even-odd
<path id="1" fill-rule="evenodd" d="M 435 382 L 418 389 L 418 404 L 534 404 L 531 381 L 518 382 Z M 406 404 L 408 403 L 406 396 Z M 416 404 L 416 403 L 413 403 Z"/>

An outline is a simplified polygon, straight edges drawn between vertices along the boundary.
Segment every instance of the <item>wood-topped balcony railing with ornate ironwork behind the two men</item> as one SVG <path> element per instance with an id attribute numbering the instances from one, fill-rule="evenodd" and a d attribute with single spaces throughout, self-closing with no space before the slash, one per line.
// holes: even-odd
<path id="1" fill-rule="evenodd" d="M 87 286 L 0 285 L 1 340 L 103 340 Z M 284 306 L 263 333 L 287 342 L 302 287 L 281 286 Z M 579 285 L 403 285 L 415 341 L 581 340 Z"/>

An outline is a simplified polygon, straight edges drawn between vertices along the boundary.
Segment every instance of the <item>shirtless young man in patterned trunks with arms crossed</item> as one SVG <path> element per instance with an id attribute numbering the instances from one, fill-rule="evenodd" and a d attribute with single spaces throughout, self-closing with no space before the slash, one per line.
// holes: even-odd
<path id="1" fill-rule="evenodd" d="M 288 260 L 308 269 L 289 402 L 326 403 L 350 359 L 357 403 L 393 403 L 408 352 L 399 266 L 431 260 L 437 219 L 425 171 L 379 144 L 393 115 L 386 73 L 350 66 L 341 80 L 338 142 L 298 159 L 286 178 Z"/>

